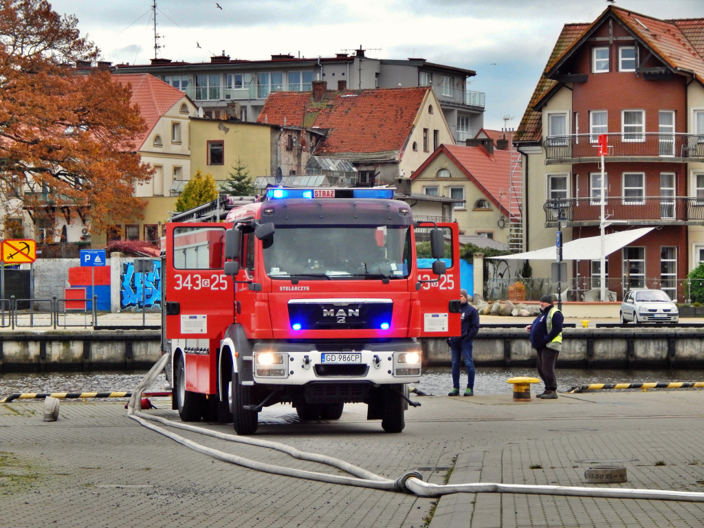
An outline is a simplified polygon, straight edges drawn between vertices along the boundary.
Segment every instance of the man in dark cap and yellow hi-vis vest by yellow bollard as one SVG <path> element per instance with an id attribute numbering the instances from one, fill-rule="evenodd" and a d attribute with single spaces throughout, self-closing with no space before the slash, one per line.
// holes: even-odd
<path id="1" fill-rule="evenodd" d="M 553 400 L 558 397 L 558 381 L 555 377 L 555 363 L 562 348 L 562 323 L 565 318 L 557 306 L 553 306 L 553 296 L 545 294 L 540 298 L 541 312 L 531 325 L 526 327 L 530 332 L 530 344 L 536 349 L 538 357 L 536 365 L 538 375 L 545 384 L 543 394 L 538 398 Z"/>

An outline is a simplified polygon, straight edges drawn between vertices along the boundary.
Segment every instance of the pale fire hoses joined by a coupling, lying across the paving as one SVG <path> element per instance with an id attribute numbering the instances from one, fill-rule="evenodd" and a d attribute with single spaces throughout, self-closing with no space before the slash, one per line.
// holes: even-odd
<path id="1" fill-rule="evenodd" d="M 237 436 L 234 434 L 226 434 L 217 431 L 196 427 L 194 425 L 184 424 L 182 422 L 174 422 L 166 420 L 162 417 L 148 415 L 142 413 L 142 401 L 139 395 L 149 386 L 154 379 L 161 373 L 168 363 L 169 356 L 162 356 L 156 364 L 151 367 L 151 370 L 146 373 L 142 382 L 139 383 L 136 389 L 132 391 L 132 398 L 127 404 L 127 415 L 133 420 L 136 420 L 144 427 L 147 427 L 159 434 L 163 434 L 168 438 L 177 441 L 178 443 L 187 446 L 194 451 L 209 455 L 224 462 L 249 467 L 252 470 L 268 472 L 272 474 L 284 475 L 287 477 L 296 477 L 300 479 L 310 479 L 316 482 L 327 482 L 329 484 L 344 484 L 347 486 L 366 487 L 371 489 L 382 489 L 386 491 L 401 491 L 407 494 L 415 494 L 421 497 L 439 497 L 449 494 L 458 493 L 510 493 L 510 494 L 536 494 L 536 495 L 554 495 L 554 496 L 574 496 L 574 497 L 591 497 L 591 498 L 640 498 L 656 501 L 686 501 L 686 502 L 704 502 L 704 493 L 694 491 L 670 491 L 657 489 L 625 489 L 625 488 L 595 488 L 595 487 L 580 487 L 580 486 L 540 486 L 527 484 L 497 484 L 490 482 L 472 483 L 472 484 L 429 484 L 423 482 L 422 475 L 418 472 L 408 472 L 403 474 L 398 479 L 388 479 L 379 476 L 361 467 L 352 465 L 351 463 L 340 460 L 339 458 L 329 457 L 318 453 L 308 453 L 299 451 L 298 449 L 279 444 L 269 440 L 253 439 L 247 436 Z M 234 441 L 239 444 L 249 444 L 251 446 L 275 449 L 283 453 L 287 453 L 294 458 L 301 460 L 309 460 L 316 463 L 336 467 L 339 470 L 353 475 L 346 477 L 343 475 L 334 475 L 320 472 L 312 472 L 306 470 L 296 470 L 289 467 L 281 467 L 267 463 L 260 463 L 256 460 L 244 458 L 218 449 L 201 446 L 195 441 L 189 440 L 184 436 L 170 432 L 163 427 L 149 423 L 160 422 L 168 427 L 176 427 L 199 434 L 206 434 L 213 438 Z"/>

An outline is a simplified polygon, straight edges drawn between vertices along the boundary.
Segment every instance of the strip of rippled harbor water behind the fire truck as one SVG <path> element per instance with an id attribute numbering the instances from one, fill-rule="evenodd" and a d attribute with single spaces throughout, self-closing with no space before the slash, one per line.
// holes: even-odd
<path id="1" fill-rule="evenodd" d="M 131 392 L 144 377 L 145 372 L 22 372 L 0 375 L 0 398 L 18 393 L 51 392 Z M 558 391 L 573 386 L 593 383 L 669 383 L 703 382 L 704 370 L 610 370 L 610 369 L 558 369 Z M 506 382 L 510 377 L 536 377 L 530 367 L 504 368 L 479 367 L 474 381 L 477 394 L 510 394 L 512 386 Z M 463 369 L 461 386 L 465 386 L 467 375 Z M 147 391 L 164 391 L 168 386 L 165 376 L 159 375 Z M 425 394 L 442 396 L 452 389 L 449 367 L 425 369 L 420 383 L 413 384 Z M 542 390 L 536 384 L 534 390 Z"/>

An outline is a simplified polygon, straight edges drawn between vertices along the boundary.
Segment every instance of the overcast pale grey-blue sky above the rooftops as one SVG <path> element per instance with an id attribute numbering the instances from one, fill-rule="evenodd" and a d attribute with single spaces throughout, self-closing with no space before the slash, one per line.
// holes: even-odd
<path id="1" fill-rule="evenodd" d="M 154 57 L 154 0 L 49 0 L 73 14 L 113 64 Z M 219 4 L 221 8 L 218 8 Z M 605 0 L 156 0 L 157 56 L 208 62 L 272 54 L 425 58 L 477 72 L 484 126 L 515 128 L 566 23 L 590 23 Z M 702 0 L 616 0 L 656 18 L 704 18 Z M 198 45 L 201 47 L 199 48 Z M 504 118 L 513 118 L 505 121 Z"/>

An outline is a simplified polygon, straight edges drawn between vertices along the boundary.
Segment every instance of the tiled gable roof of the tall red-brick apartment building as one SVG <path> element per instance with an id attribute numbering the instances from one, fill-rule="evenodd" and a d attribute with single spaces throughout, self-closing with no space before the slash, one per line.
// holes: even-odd
<path id="1" fill-rule="evenodd" d="M 534 142 L 540 139 L 541 114 L 535 107 L 558 84 L 548 75 L 609 16 L 619 20 L 669 68 L 691 73 L 704 84 L 704 18 L 660 20 L 608 6 L 591 24 L 566 24 L 562 28 L 516 132 L 517 141 Z"/>

